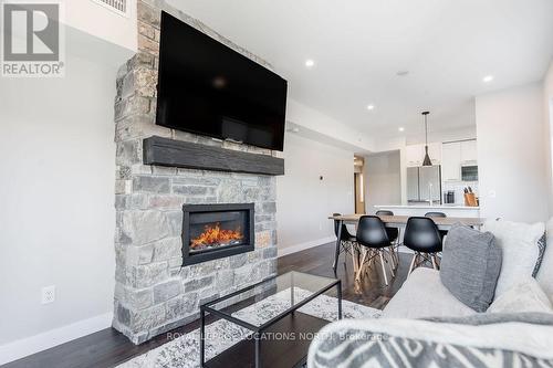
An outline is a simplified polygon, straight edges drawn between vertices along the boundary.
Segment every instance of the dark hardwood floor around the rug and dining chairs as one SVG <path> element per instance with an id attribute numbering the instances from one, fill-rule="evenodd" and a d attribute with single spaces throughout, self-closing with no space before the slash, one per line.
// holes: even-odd
<path id="1" fill-rule="evenodd" d="M 332 257 L 334 243 L 312 248 L 302 252 L 285 255 L 279 259 L 279 274 L 289 271 L 301 271 L 321 276 L 334 277 Z M 383 308 L 389 298 L 397 292 L 407 275 L 409 259 L 400 254 L 399 267 L 396 277 L 388 286 L 384 285 L 382 272 L 372 267 L 361 282 L 354 281 L 351 259 L 344 263 L 341 256 L 337 276 L 342 280 L 344 299 L 364 304 L 375 308 Z M 103 368 L 115 367 L 135 356 L 156 348 L 171 336 L 186 334 L 199 327 L 199 323 L 179 327 L 170 333 L 161 334 L 156 338 L 136 346 L 125 336 L 113 328 L 106 328 L 92 335 L 81 337 L 54 348 L 34 354 L 23 359 L 3 365 L 2 368 Z"/>

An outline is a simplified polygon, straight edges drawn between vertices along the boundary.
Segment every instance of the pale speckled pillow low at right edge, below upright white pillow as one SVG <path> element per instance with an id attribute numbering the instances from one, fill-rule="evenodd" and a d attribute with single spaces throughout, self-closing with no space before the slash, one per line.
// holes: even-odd
<path id="1" fill-rule="evenodd" d="M 553 306 L 532 277 L 526 277 L 501 294 L 488 308 L 487 313 L 553 313 Z"/>

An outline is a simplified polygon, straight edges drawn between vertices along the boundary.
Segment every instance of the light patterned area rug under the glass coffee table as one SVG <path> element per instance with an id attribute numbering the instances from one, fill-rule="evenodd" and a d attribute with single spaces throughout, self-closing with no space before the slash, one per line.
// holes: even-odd
<path id="1" fill-rule="evenodd" d="M 304 298 L 312 293 L 295 288 L 295 299 Z M 271 295 L 255 304 L 233 313 L 253 325 L 260 326 L 290 305 L 290 290 Z M 337 299 L 332 296 L 321 295 L 299 309 L 302 313 L 323 318 L 337 320 Z M 382 312 L 361 304 L 342 301 L 344 318 L 378 318 Z M 238 341 L 247 338 L 250 330 L 237 326 L 228 320 L 219 319 L 206 326 L 206 360 L 228 349 Z M 199 367 L 199 329 L 182 334 L 171 341 L 149 350 L 117 368 L 197 368 Z"/>

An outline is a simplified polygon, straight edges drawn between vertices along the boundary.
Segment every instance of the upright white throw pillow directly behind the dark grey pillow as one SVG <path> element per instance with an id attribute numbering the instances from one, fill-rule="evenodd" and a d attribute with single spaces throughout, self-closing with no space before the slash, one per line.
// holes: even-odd
<path id="1" fill-rule="evenodd" d="M 538 241 L 543 235 L 545 225 L 541 222 L 528 224 L 497 220 L 487 221 L 482 230 L 491 232 L 503 251 L 495 299 L 521 280 L 532 276 L 540 254 Z"/>

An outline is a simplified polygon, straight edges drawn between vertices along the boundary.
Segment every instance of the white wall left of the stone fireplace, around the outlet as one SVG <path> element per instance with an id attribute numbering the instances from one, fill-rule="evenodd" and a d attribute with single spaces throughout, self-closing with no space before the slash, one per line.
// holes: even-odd
<path id="1" fill-rule="evenodd" d="M 67 50 L 64 78 L 0 82 L 0 365 L 111 325 L 116 69 L 104 59 Z M 46 285 L 56 299 L 41 305 Z"/>

